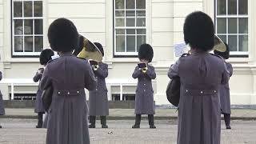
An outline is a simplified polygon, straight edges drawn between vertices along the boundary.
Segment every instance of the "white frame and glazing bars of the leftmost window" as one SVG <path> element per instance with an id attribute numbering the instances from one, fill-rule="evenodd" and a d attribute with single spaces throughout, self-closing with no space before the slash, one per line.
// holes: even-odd
<path id="1" fill-rule="evenodd" d="M 17 18 L 14 18 L 14 2 L 22 2 L 22 17 L 17 17 Z M 24 17 L 24 3 L 23 2 L 32 2 L 32 16 L 31 17 Z M 42 17 L 34 17 L 34 2 L 42 2 Z M 11 5 L 11 14 L 10 14 L 10 23 L 11 23 L 11 34 L 10 34 L 10 40 L 11 40 L 11 57 L 12 58 L 38 58 L 39 55 L 41 54 L 41 51 L 40 52 L 34 52 L 34 49 L 35 49 L 35 43 L 34 43 L 34 37 L 42 37 L 42 50 L 44 49 L 44 1 L 43 0 L 11 0 L 10 1 L 10 5 Z M 23 34 L 22 35 L 17 35 L 17 34 L 14 34 L 14 20 L 22 20 L 22 32 Z M 26 20 L 26 19 L 30 19 L 30 20 L 33 20 L 33 34 L 24 34 L 24 22 L 23 20 Z M 40 19 L 42 20 L 42 34 L 34 34 L 34 20 L 37 20 L 37 19 Z M 22 36 L 23 38 L 23 52 L 15 52 L 14 51 L 14 37 L 15 36 Z M 24 37 L 25 36 L 30 36 L 33 38 L 33 52 L 25 52 L 25 42 L 24 42 Z"/>

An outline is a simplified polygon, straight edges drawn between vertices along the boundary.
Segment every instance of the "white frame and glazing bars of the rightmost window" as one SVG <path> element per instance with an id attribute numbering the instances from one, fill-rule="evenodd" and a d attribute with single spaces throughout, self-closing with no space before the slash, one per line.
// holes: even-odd
<path id="1" fill-rule="evenodd" d="M 225 0 L 226 1 L 226 14 L 225 15 L 218 15 L 218 0 L 214 0 L 214 26 L 215 26 L 215 34 L 217 35 L 223 35 L 223 36 L 226 36 L 226 41 L 228 43 L 228 36 L 230 35 L 234 35 L 234 36 L 237 36 L 237 50 L 239 50 L 239 36 L 240 35 L 246 35 L 247 38 L 248 38 L 248 41 L 247 41 L 247 45 L 248 45 L 248 50 L 247 51 L 230 51 L 230 57 L 235 57 L 235 58 L 248 58 L 249 57 L 249 52 L 250 52 L 250 45 L 249 45 L 249 41 L 250 41 L 250 32 L 249 32 L 249 0 L 247 1 L 247 14 L 238 14 L 238 11 L 239 11 L 239 0 L 237 0 L 237 8 L 236 8 L 236 13 L 237 14 L 228 14 L 228 0 Z M 226 18 L 226 33 L 223 33 L 223 34 L 218 34 L 218 23 L 217 23 L 217 19 L 218 18 Z M 229 28 L 229 18 L 236 18 L 237 19 L 237 33 L 236 34 L 229 34 L 228 33 L 228 28 Z M 248 27 L 248 33 L 247 34 L 239 34 L 239 18 L 247 18 L 247 27 Z"/>

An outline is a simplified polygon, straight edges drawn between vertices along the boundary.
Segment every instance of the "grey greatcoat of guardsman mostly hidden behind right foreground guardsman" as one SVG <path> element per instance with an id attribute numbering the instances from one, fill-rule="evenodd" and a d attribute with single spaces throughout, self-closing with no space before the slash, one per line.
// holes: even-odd
<path id="1" fill-rule="evenodd" d="M 230 72 L 230 77 L 233 74 L 233 67 L 230 63 L 226 62 L 226 68 Z M 220 87 L 219 96 L 221 100 L 222 113 L 231 114 L 230 110 L 230 86 L 226 83 Z"/>

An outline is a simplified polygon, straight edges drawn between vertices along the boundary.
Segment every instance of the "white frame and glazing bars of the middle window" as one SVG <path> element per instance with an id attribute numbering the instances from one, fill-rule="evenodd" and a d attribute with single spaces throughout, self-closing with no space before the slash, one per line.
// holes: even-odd
<path id="1" fill-rule="evenodd" d="M 116 8 L 115 8 L 115 1 L 116 0 L 113 0 L 113 44 L 114 44 L 114 49 L 113 49 L 113 57 L 114 58 L 137 58 L 138 57 L 138 47 L 137 47 L 137 36 L 138 35 L 145 35 L 145 37 L 147 37 L 147 22 L 146 22 L 146 25 L 145 26 L 136 26 L 137 24 L 137 18 L 145 18 L 146 19 L 146 0 L 145 0 L 145 9 L 137 9 L 136 8 L 136 1 L 137 0 L 134 0 L 134 9 L 128 9 L 128 10 L 134 10 L 135 11 L 135 14 L 134 14 L 134 19 L 135 19 L 135 26 L 118 26 L 116 27 L 116 17 L 115 16 L 115 11 L 116 11 Z M 125 8 L 124 9 L 120 9 L 120 10 L 124 10 L 124 23 L 126 25 L 126 0 L 124 0 L 124 6 Z M 145 17 L 144 16 L 136 16 L 136 11 L 137 10 L 145 10 Z M 122 17 L 121 17 L 122 18 Z M 125 34 L 116 34 L 116 29 L 122 29 L 122 30 L 125 30 Z M 126 30 L 129 30 L 129 29 L 133 29 L 135 30 L 135 34 L 126 34 Z M 137 30 L 139 29 L 142 29 L 142 30 L 145 30 L 146 31 L 146 34 L 137 34 Z M 136 52 L 117 52 L 117 46 L 116 46 L 116 36 L 117 35 L 124 35 L 125 36 L 125 50 L 126 50 L 126 36 L 127 35 L 133 35 L 135 36 L 135 50 L 137 50 Z M 145 38 L 145 41 L 146 41 L 146 38 Z"/>

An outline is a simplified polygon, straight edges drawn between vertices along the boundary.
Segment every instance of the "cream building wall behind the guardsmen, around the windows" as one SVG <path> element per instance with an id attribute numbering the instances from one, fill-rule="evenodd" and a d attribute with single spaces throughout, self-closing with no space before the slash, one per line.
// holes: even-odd
<path id="1" fill-rule="evenodd" d="M 47 42 L 47 29 L 56 18 L 70 18 L 79 33 L 93 42 L 101 42 L 105 48 L 104 61 L 109 64 L 108 78 L 131 78 L 138 58 L 113 58 L 113 0 L 45 0 L 44 11 L 44 46 Z M 230 78 L 231 103 L 234 105 L 256 105 L 256 2 L 249 0 L 249 58 L 230 58 L 234 66 L 234 75 Z M 209 0 L 146 0 L 146 42 L 154 47 L 152 65 L 157 73 L 154 86 L 156 104 L 168 104 L 166 86 L 169 82 L 167 71 L 174 57 L 173 45 L 183 41 L 183 22 L 191 11 L 202 10 L 214 18 L 214 1 Z M 32 78 L 40 66 L 38 58 L 11 58 L 10 2 L 0 0 L 0 70 L 4 78 Z M 4 98 L 10 90 L 0 85 Z M 31 90 L 22 87 L 19 90 Z M 37 89 L 34 86 L 35 92 Z M 135 87 L 127 88 L 131 93 Z M 109 95 L 117 89 L 109 87 Z M 110 96 L 109 96 L 110 98 Z"/>

